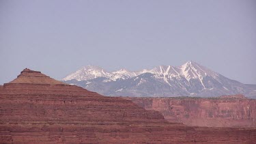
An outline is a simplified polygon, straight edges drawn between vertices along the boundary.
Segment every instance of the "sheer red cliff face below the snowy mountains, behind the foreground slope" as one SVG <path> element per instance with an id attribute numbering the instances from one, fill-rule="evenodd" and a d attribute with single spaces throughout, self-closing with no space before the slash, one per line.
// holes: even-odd
<path id="1" fill-rule="evenodd" d="M 244 96 L 128 99 L 187 126 L 256 127 L 256 100 Z"/>

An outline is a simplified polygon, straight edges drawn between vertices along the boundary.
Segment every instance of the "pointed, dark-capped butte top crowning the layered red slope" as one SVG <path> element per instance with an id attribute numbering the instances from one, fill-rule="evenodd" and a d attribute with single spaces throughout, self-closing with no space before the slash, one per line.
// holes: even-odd
<path id="1" fill-rule="evenodd" d="M 48 84 L 48 85 L 68 85 L 60 81 L 56 81 L 50 76 L 46 76 L 41 72 L 29 70 L 25 68 L 20 74 L 10 83 L 16 84 Z"/>

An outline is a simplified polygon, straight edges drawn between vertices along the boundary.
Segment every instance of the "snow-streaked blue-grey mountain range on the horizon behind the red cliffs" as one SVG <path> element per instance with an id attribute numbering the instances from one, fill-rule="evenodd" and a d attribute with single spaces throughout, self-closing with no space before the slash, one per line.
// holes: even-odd
<path id="1" fill-rule="evenodd" d="M 63 78 L 106 96 L 221 96 L 250 93 L 255 85 L 244 85 L 218 74 L 198 63 L 182 66 L 158 66 L 152 70 L 130 72 L 122 69 L 107 72 L 97 66 L 85 66 Z M 254 88 L 255 87 L 255 88 Z"/>

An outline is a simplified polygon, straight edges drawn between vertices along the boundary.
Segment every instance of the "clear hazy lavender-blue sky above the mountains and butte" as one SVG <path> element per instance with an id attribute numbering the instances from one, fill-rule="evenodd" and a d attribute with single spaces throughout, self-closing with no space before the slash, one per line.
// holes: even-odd
<path id="1" fill-rule="evenodd" d="M 256 1 L 0 0 L 0 85 L 24 68 L 60 80 L 197 63 L 256 84 Z"/>

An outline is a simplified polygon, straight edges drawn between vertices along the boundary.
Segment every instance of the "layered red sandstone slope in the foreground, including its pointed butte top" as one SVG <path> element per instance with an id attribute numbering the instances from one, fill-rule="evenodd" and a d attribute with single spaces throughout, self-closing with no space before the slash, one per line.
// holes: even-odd
<path id="1" fill-rule="evenodd" d="M 170 123 L 131 100 L 23 70 L 0 87 L 0 143 L 255 143 L 255 128 Z"/>

